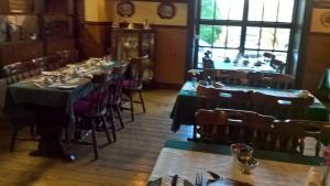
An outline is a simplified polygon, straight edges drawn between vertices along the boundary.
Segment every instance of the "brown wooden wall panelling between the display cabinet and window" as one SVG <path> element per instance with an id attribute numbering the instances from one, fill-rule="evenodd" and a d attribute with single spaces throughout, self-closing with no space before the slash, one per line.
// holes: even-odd
<path id="1" fill-rule="evenodd" d="M 155 81 L 183 84 L 187 54 L 187 30 L 156 28 Z"/>

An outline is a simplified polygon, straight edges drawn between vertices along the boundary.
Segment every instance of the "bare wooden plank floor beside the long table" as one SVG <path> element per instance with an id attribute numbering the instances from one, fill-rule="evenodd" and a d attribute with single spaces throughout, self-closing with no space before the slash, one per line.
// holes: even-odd
<path id="1" fill-rule="evenodd" d="M 169 113 L 176 91 L 152 90 L 144 94 L 146 113 L 139 105 L 136 121 L 129 122 L 118 132 L 118 141 L 99 150 L 100 158 L 94 161 L 91 146 L 72 145 L 78 161 L 68 163 L 58 160 L 29 156 L 36 142 L 18 141 L 13 153 L 9 149 L 10 130 L 0 127 L 0 186 L 142 186 L 145 185 L 158 153 L 167 139 L 185 140 L 190 128 L 178 133 L 170 129 Z M 99 143 L 106 142 L 103 133 Z"/>

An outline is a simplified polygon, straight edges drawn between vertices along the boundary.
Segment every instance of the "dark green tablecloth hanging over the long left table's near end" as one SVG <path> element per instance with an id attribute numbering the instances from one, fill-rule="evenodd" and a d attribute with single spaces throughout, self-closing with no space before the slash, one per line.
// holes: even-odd
<path id="1" fill-rule="evenodd" d="M 74 102 L 91 89 L 90 83 L 74 89 L 40 88 L 32 83 L 15 83 L 8 86 L 6 112 L 12 122 L 35 122 L 35 107 L 59 108 L 74 121 Z"/>

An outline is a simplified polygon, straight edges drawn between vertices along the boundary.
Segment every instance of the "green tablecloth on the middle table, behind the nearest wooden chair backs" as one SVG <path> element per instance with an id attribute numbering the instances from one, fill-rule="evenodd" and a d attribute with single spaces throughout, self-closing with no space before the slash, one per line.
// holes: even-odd
<path id="1" fill-rule="evenodd" d="M 228 89 L 240 89 L 240 90 L 255 90 L 264 94 L 271 94 L 276 96 L 297 96 L 299 90 L 283 90 L 273 88 L 260 88 L 260 87 L 248 87 L 248 86 L 226 86 Z M 177 95 L 176 102 L 170 113 L 173 119 L 172 130 L 177 131 L 180 124 L 194 124 L 195 112 L 197 108 L 197 95 L 196 87 L 193 86 L 191 81 L 185 83 L 183 88 Z M 316 98 L 315 102 L 308 110 L 307 119 L 315 121 L 328 121 L 328 109 Z"/>

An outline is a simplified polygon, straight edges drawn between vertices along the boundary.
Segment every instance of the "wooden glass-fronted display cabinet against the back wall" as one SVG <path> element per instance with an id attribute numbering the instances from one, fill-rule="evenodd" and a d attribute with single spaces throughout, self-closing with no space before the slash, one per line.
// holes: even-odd
<path id="1" fill-rule="evenodd" d="M 145 72 L 144 80 L 154 77 L 156 33 L 152 29 L 112 29 L 111 50 L 114 59 L 124 61 L 147 55 L 150 70 Z"/>

